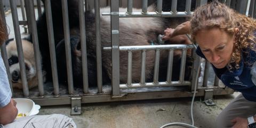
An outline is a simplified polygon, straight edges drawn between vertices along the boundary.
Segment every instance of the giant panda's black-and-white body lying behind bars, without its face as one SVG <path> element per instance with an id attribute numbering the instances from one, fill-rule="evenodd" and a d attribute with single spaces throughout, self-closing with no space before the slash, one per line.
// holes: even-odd
<path id="1" fill-rule="evenodd" d="M 44 1 L 43 1 L 44 2 Z M 165 1 L 167 2 L 167 1 Z M 183 1 L 185 4 L 186 1 Z M 170 3 L 170 2 L 169 2 Z M 62 11 L 61 1 L 51 1 L 52 4 L 52 17 L 53 17 L 53 29 L 54 29 L 54 42 L 55 51 L 57 57 L 58 77 L 59 82 L 67 84 L 67 70 L 66 70 L 66 55 L 65 55 L 65 40 L 63 36 L 63 23 L 62 23 Z M 163 4 L 163 10 L 168 10 L 167 7 L 170 4 Z M 179 4 L 178 4 L 179 5 Z M 184 8 L 178 6 L 178 11 Z M 155 9 L 154 5 L 149 6 L 149 11 Z M 70 46 L 73 68 L 73 80 L 75 87 L 82 87 L 82 60 L 81 60 L 81 44 L 79 38 L 79 19 L 78 19 L 78 1 L 68 1 L 69 10 L 69 28 L 70 28 Z M 185 10 L 185 9 L 183 9 Z M 109 7 L 103 7 L 100 12 L 109 12 Z M 120 12 L 125 12 L 126 9 L 119 8 Z M 140 12 L 139 9 L 133 9 L 134 12 Z M 97 69 L 96 69 L 96 44 L 95 44 L 95 20 L 94 10 L 86 11 L 85 13 L 85 27 L 86 27 L 86 47 L 87 47 L 87 67 L 88 67 L 88 79 L 89 86 L 97 85 Z M 134 46 L 134 45 L 159 45 L 157 43 L 157 36 L 163 34 L 167 27 L 175 27 L 179 23 L 186 21 L 186 18 L 174 19 L 174 18 L 119 18 L 119 46 Z M 110 17 L 100 17 L 101 24 L 101 45 L 102 47 L 111 46 L 110 35 Z M 49 53 L 49 42 L 47 37 L 47 26 L 45 12 L 42 17 L 37 20 L 38 42 L 39 50 L 42 56 L 43 72 L 45 71 L 45 82 L 52 81 L 51 62 Z M 31 36 L 26 38 L 26 41 L 31 43 Z M 182 43 L 183 41 L 173 41 L 175 43 Z M 166 42 L 166 44 L 173 44 L 172 41 Z M 22 42 L 23 44 L 24 42 Z M 11 43 L 7 44 L 10 45 Z M 33 45 L 31 45 L 33 46 Z M 9 49 L 7 49 L 9 51 Z M 30 54 L 34 55 L 34 54 Z M 147 51 L 146 53 L 146 81 L 153 81 L 154 74 L 154 61 L 155 51 Z M 167 69 L 167 51 L 161 51 L 160 69 L 159 69 L 159 81 L 164 81 L 166 78 Z M 127 52 L 120 52 L 120 82 L 125 83 L 127 81 Z M 30 58 L 31 59 L 31 58 Z M 173 60 L 173 80 L 177 80 L 179 77 L 181 52 L 174 52 Z M 26 57 L 25 57 L 26 61 Z M 132 59 L 132 81 L 140 81 L 141 71 L 141 52 L 133 52 Z M 185 79 L 189 79 L 192 60 L 188 56 L 186 63 L 186 76 Z M 35 68 L 35 67 L 34 67 Z M 34 75 L 36 77 L 36 74 Z M 103 84 L 111 82 L 111 52 L 102 51 L 102 82 Z M 20 83 L 21 86 L 21 83 Z M 29 84 L 29 88 L 34 87 Z M 21 86 L 22 87 L 22 86 Z M 19 88 L 21 88 L 19 87 Z"/>

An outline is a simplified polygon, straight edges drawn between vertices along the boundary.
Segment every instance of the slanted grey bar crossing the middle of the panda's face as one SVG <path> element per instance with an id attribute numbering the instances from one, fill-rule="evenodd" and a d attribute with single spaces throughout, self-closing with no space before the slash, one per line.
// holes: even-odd
<path id="1" fill-rule="evenodd" d="M 22 43 L 21 43 L 20 27 L 19 27 L 18 12 L 17 12 L 17 3 L 15 0 L 10 0 L 10 5 L 11 5 L 11 11 L 12 11 L 14 34 L 15 34 L 18 57 L 19 57 L 18 59 L 19 59 L 19 65 L 20 65 L 20 74 L 21 74 L 21 80 L 22 80 L 23 94 L 25 97 L 28 97 L 29 96 L 28 82 L 27 82 L 26 68 L 25 68 Z"/>

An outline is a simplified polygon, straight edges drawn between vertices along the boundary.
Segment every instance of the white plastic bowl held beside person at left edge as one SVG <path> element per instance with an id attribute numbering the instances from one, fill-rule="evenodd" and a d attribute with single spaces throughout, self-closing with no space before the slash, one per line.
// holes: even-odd
<path id="1" fill-rule="evenodd" d="M 30 99 L 17 98 L 14 99 L 17 102 L 18 113 L 26 114 L 26 116 L 36 115 L 41 108 L 39 105 L 35 105 L 35 102 Z"/>

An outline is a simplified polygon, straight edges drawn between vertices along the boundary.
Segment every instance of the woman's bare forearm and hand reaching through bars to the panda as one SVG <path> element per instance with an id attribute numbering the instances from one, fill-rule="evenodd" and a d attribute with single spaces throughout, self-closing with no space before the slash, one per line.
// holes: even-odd
<path id="1" fill-rule="evenodd" d="M 175 29 L 167 28 L 164 33 L 163 40 L 168 40 L 178 35 L 190 34 L 190 21 L 181 23 Z"/>

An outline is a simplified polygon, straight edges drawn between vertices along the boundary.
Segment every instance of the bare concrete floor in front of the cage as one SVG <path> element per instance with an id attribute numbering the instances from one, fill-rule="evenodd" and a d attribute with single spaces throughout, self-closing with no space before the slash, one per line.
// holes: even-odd
<path id="1" fill-rule="evenodd" d="M 217 115 L 238 94 L 214 97 L 215 106 L 206 106 L 197 97 L 193 111 L 195 126 L 214 127 Z M 190 104 L 191 98 L 87 103 L 82 106 L 82 115 L 71 116 L 70 106 L 42 107 L 39 115 L 64 114 L 72 117 L 77 127 L 156 128 L 171 122 L 191 124 Z"/>

